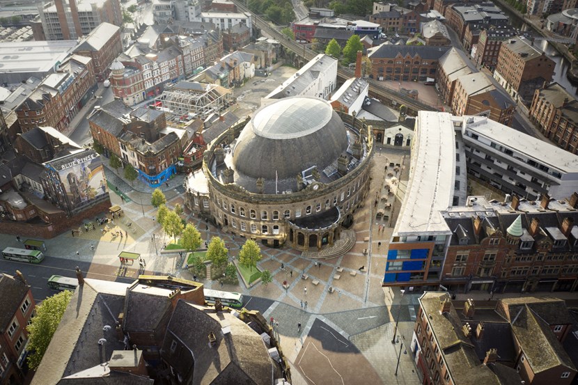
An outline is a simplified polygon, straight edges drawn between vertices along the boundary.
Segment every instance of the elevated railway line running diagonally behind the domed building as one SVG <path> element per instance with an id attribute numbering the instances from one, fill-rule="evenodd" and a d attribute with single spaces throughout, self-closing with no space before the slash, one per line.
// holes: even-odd
<path id="1" fill-rule="evenodd" d="M 295 54 L 302 56 L 306 61 L 311 61 L 315 56 L 318 54 L 313 52 L 313 50 L 309 49 L 305 45 L 299 44 L 295 42 L 295 40 L 290 40 L 287 38 L 283 33 L 279 32 L 270 22 L 263 19 L 259 15 L 251 12 L 249 8 L 244 6 L 239 1 L 233 0 L 233 3 L 236 4 L 237 8 L 242 10 L 243 12 L 251 13 L 253 18 L 253 24 L 260 29 L 261 31 L 265 31 L 267 35 L 271 36 L 272 38 L 278 40 L 283 47 L 286 49 L 290 49 Z M 354 76 L 354 72 L 347 68 L 339 67 L 337 70 L 337 77 L 340 81 L 345 81 L 350 79 Z M 380 100 L 381 102 L 389 105 L 400 105 L 404 104 L 407 107 L 408 113 L 412 112 L 413 115 L 417 113 L 417 111 L 436 111 L 436 108 L 430 106 L 429 104 L 425 104 L 419 102 L 418 100 L 413 100 L 411 97 L 407 97 L 401 93 L 393 91 L 389 88 L 382 86 L 378 81 L 375 79 L 366 79 L 369 83 L 369 95 L 371 97 L 375 97 L 376 99 Z"/>

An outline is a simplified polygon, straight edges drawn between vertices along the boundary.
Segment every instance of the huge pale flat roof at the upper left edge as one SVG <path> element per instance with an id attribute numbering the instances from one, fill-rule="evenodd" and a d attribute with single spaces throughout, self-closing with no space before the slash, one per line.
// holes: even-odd
<path id="1" fill-rule="evenodd" d="M 0 42 L 0 73 L 52 72 L 76 45 L 76 40 Z"/>

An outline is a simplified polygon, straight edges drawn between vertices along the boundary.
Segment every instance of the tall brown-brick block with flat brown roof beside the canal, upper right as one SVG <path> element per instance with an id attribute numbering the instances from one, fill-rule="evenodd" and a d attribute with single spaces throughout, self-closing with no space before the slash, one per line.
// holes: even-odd
<path id="1" fill-rule="evenodd" d="M 552 81 L 555 63 L 531 43 L 520 37 L 501 44 L 494 78 L 514 100 L 530 104 L 534 90 Z"/>

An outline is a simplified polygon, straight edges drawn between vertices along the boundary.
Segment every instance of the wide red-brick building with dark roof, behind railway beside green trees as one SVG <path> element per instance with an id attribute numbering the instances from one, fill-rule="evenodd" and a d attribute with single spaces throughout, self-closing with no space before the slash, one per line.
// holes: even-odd
<path id="1" fill-rule="evenodd" d="M 386 45 L 368 49 L 372 79 L 425 81 L 436 77 L 438 61 L 449 47 Z"/>

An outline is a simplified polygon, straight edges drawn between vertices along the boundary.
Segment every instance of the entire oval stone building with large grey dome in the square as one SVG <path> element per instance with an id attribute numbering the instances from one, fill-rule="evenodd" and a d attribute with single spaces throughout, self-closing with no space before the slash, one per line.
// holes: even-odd
<path id="1" fill-rule="evenodd" d="M 304 251 L 331 246 L 368 191 L 368 132 L 325 100 L 283 98 L 212 143 L 203 173 L 185 181 L 185 204 L 263 244 Z"/>

